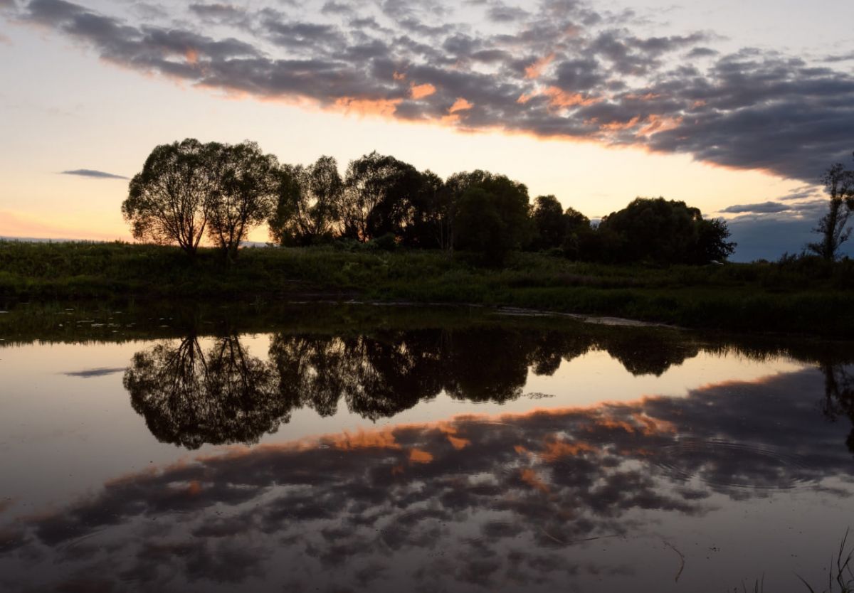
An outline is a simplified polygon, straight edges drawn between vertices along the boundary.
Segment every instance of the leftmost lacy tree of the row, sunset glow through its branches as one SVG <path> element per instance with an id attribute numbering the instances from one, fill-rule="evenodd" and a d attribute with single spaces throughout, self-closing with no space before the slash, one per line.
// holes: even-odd
<path id="1" fill-rule="evenodd" d="M 151 151 L 121 205 L 135 239 L 178 243 L 190 256 L 196 254 L 208 225 L 209 197 L 219 183 L 210 161 L 220 148 L 187 138 Z"/>

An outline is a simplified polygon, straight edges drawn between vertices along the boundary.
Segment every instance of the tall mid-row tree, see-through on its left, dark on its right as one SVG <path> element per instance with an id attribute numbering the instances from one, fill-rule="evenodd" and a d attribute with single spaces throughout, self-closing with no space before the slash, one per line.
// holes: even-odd
<path id="1" fill-rule="evenodd" d="M 350 161 L 341 201 L 342 235 L 358 241 L 401 237 L 421 182 L 415 167 L 392 156 L 372 152 Z"/>

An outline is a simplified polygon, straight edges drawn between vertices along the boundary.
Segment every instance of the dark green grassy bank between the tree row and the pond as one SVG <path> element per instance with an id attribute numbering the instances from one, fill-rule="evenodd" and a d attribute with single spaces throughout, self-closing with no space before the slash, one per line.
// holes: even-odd
<path id="1" fill-rule="evenodd" d="M 501 269 L 465 254 L 368 248 L 202 250 L 120 243 L 0 242 L 3 306 L 51 299 L 371 299 L 512 305 L 693 328 L 854 334 L 854 265 L 582 264 L 517 253 Z"/>

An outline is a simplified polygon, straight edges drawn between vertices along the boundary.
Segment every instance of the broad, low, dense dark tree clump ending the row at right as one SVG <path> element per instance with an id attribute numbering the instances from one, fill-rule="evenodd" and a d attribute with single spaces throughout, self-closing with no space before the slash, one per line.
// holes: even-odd
<path id="1" fill-rule="evenodd" d="M 722 220 L 705 220 L 683 201 L 637 198 L 602 219 L 601 259 L 658 264 L 705 264 L 725 259 L 735 244 Z"/>

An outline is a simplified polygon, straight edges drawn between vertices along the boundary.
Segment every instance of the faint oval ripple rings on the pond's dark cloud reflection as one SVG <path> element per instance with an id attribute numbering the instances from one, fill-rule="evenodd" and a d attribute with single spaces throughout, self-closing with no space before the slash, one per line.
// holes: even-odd
<path id="1" fill-rule="evenodd" d="M 673 480 L 750 490 L 790 490 L 812 480 L 800 457 L 768 445 L 681 440 L 659 450 L 655 465 Z"/>

